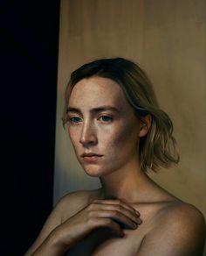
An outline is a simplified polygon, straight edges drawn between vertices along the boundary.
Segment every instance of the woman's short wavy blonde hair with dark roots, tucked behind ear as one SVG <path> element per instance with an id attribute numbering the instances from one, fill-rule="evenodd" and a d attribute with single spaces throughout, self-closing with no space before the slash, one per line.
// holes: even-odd
<path id="1" fill-rule="evenodd" d="M 175 148 L 173 124 L 168 114 L 160 110 L 154 96 L 154 90 L 147 75 L 131 60 L 123 58 L 101 59 L 87 63 L 72 72 L 70 82 L 65 89 L 65 110 L 63 125 L 67 122 L 67 107 L 72 89 L 77 82 L 93 76 L 112 79 L 120 85 L 127 102 L 134 110 L 135 116 L 143 122 L 148 114 L 152 124 L 148 134 L 140 139 L 141 171 L 170 167 L 178 163 L 179 154 Z"/>

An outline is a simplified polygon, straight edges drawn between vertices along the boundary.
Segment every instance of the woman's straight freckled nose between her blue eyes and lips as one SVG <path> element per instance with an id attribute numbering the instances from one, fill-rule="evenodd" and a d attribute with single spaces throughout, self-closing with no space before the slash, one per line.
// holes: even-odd
<path id="1" fill-rule="evenodd" d="M 98 143 L 96 131 L 93 125 L 85 123 L 82 126 L 79 142 L 82 146 L 95 146 Z"/>

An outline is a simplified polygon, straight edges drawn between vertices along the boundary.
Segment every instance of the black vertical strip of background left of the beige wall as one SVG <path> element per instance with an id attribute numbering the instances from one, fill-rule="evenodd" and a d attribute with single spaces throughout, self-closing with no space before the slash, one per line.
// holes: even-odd
<path id="1" fill-rule="evenodd" d="M 0 255 L 23 255 L 52 210 L 59 1 L 1 1 Z"/>

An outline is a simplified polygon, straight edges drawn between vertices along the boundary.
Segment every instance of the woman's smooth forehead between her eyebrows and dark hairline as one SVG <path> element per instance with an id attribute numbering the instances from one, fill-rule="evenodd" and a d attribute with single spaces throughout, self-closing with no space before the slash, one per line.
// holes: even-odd
<path id="1" fill-rule="evenodd" d="M 80 80 L 72 89 L 69 105 L 95 107 L 99 105 L 125 106 L 127 100 L 120 85 L 105 77 L 90 77 Z"/>

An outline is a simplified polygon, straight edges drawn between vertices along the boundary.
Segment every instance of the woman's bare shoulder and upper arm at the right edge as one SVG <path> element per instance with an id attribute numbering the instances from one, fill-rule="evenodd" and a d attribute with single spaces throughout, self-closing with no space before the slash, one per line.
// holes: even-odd
<path id="1" fill-rule="evenodd" d="M 138 256 L 203 255 L 205 221 L 195 207 L 184 204 L 164 212 L 143 239 Z"/>

